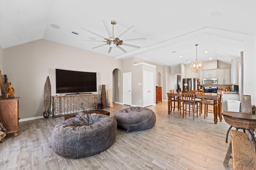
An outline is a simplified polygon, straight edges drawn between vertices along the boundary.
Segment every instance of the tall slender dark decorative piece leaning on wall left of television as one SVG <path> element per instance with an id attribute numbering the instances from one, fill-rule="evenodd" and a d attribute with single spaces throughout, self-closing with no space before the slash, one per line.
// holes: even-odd
<path id="1" fill-rule="evenodd" d="M 49 107 L 50 107 L 50 100 L 51 100 L 51 82 L 49 76 L 46 79 L 44 84 L 44 118 L 49 117 Z"/>

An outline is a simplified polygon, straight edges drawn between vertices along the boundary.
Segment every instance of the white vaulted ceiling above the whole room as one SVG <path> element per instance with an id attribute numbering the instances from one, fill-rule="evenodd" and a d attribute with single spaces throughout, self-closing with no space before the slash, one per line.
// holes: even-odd
<path id="1" fill-rule="evenodd" d="M 114 36 L 134 26 L 122 39 L 140 49 L 122 45 L 126 53 L 118 48 L 108 53 L 100 38 L 109 38 L 102 20 L 111 31 L 110 21 L 116 21 Z M 136 56 L 174 66 L 194 61 L 199 44 L 199 60 L 230 64 L 240 57 L 245 36 L 256 36 L 255 0 L 0 0 L 2 48 L 45 39 L 116 59 Z M 134 38 L 146 40 L 125 41 Z M 81 41 L 92 39 L 102 42 Z"/>

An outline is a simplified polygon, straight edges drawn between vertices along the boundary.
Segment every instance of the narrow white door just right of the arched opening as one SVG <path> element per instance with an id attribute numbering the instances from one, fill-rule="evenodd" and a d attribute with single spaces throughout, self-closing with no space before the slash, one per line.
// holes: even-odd
<path id="1" fill-rule="evenodd" d="M 124 73 L 124 105 L 132 105 L 132 73 Z"/>

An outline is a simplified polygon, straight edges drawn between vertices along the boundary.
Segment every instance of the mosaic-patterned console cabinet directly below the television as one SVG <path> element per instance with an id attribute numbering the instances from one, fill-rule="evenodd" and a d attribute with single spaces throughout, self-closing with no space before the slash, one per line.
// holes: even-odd
<path id="1" fill-rule="evenodd" d="M 52 117 L 97 109 L 97 94 L 52 96 Z"/>

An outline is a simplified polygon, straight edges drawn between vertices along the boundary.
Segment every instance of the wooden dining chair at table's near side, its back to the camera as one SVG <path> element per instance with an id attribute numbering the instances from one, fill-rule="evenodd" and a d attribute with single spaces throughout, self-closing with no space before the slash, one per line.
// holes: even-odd
<path id="1" fill-rule="evenodd" d="M 189 114 L 190 114 L 190 106 L 192 106 L 193 111 L 193 120 L 195 119 L 195 109 L 196 109 L 196 117 L 198 117 L 198 102 L 196 102 L 196 92 L 195 91 L 182 91 L 182 103 L 183 103 L 183 114 L 182 118 L 187 115 L 187 105 L 189 105 Z M 186 105 L 186 106 L 184 106 Z"/>

